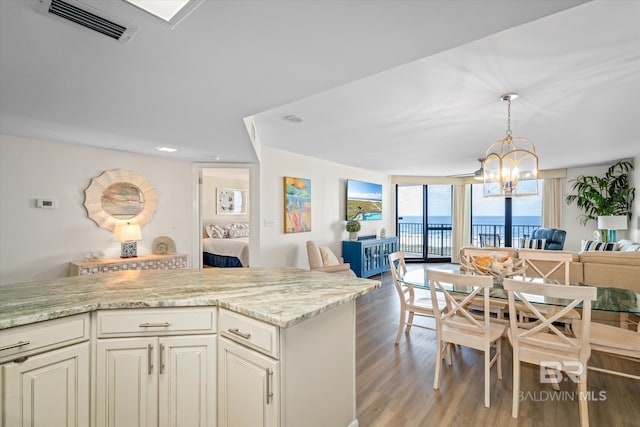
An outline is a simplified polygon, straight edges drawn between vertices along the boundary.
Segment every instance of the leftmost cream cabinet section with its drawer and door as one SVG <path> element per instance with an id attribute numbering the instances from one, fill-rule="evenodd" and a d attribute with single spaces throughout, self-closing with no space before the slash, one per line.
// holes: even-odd
<path id="1" fill-rule="evenodd" d="M 0 331 L 1 424 L 88 425 L 88 340 L 88 315 Z"/>

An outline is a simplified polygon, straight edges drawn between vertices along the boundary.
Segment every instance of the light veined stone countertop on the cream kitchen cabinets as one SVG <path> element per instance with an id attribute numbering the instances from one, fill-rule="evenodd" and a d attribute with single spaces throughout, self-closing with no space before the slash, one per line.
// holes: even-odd
<path id="1" fill-rule="evenodd" d="M 218 306 L 283 328 L 380 282 L 295 268 L 143 270 L 0 285 L 0 329 L 103 309 Z"/>

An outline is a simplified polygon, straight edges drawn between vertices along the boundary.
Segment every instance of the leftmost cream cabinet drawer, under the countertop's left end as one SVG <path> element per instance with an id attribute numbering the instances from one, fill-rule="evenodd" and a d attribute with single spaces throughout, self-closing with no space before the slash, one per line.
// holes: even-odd
<path id="1" fill-rule="evenodd" d="M 89 313 L 0 331 L 0 363 L 89 339 Z"/>

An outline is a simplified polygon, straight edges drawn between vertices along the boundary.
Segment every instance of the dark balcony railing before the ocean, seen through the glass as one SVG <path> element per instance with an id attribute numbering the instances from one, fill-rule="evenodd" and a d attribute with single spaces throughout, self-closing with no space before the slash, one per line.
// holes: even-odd
<path id="1" fill-rule="evenodd" d="M 514 247 L 518 240 L 527 238 L 540 225 L 513 225 L 511 238 Z M 474 224 L 471 227 L 471 244 L 478 247 L 504 247 L 504 225 L 502 224 Z M 398 224 L 399 249 L 408 254 L 418 254 L 423 251 L 423 224 L 402 222 Z M 427 224 L 427 250 L 430 257 L 451 257 L 451 224 Z"/>

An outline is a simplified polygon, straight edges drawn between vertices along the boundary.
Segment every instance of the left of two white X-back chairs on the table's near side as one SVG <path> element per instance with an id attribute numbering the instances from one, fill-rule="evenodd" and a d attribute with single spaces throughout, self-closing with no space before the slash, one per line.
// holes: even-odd
<path id="1" fill-rule="evenodd" d="M 491 367 L 496 364 L 498 379 L 502 379 L 502 347 L 501 337 L 506 329 L 504 323 L 491 322 L 489 313 L 489 290 L 493 287 L 493 277 L 472 276 L 450 273 L 442 270 L 427 269 L 431 299 L 442 294 L 447 302 L 446 312 L 434 306 L 436 319 L 436 334 L 438 349 L 436 356 L 436 372 L 433 388 L 440 388 L 442 360 L 446 354 L 448 364 L 451 365 L 451 344 L 459 344 L 484 352 L 484 406 L 490 407 Z M 454 298 L 447 290 L 448 284 L 455 286 L 474 287 L 461 301 Z M 483 311 L 478 314 L 472 312 L 470 305 L 482 293 Z M 491 357 L 491 348 L 495 348 L 495 355 Z"/>

